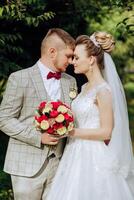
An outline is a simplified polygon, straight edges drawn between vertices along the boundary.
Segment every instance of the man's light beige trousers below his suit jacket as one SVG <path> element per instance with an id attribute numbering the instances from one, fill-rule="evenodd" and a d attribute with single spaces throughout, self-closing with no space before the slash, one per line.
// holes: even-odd
<path id="1" fill-rule="evenodd" d="M 59 158 L 46 159 L 41 170 L 33 177 L 11 175 L 15 200 L 46 200 Z"/>

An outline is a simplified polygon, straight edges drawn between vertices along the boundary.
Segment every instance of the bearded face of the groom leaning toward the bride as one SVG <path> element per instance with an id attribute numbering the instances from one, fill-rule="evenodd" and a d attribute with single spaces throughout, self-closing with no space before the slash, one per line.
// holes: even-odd
<path id="1" fill-rule="evenodd" d="M 72 64 L 73 49 L 65 46 L 63 49 L 57 50 L 57 55 L 54 60 L 54 66 L 57 71 L 64 72 L 69 64 Z"/>

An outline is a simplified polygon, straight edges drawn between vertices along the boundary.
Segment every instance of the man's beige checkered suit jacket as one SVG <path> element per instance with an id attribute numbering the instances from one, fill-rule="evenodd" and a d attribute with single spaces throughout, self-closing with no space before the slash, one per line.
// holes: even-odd
<path id="1" fill-rule="evenodd" d="M 61 77 L 61 100 L 68 105 L 69 88 L 75 79 L 65 73 Z M 34 113 L 41 101 L 50 101 L 37 64 L 12 73 L 0 106 L 0 129 L 10 136 L 4 171 L 14 175 L 31 177 L 53 153 L 41 145 L 41 133 L 34 127 Z M 61 141 L 54 153 L 61 157 L 64 149 Z"/>

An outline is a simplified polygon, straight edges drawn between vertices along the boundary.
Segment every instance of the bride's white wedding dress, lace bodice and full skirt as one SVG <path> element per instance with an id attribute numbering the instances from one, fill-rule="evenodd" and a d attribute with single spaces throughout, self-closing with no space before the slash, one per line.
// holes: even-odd
<path id="1" fill-rule="evenodd" d="M 100 126 L 95 104 L 100 90 L 110 92 L 105 82 L 90 91 L 83 87 L 73 101 L 77 127 Z M 134 200 L 118 169 L 116 155 L 103 141 L 69 139 L 47 200 Z"/>

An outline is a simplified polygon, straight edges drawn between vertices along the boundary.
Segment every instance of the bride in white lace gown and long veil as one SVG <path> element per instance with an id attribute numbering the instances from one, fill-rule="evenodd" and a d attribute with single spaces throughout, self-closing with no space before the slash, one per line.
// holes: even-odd
<path id="1" fill-rule="evenodd" d="M 70 132 L 47 200 L 134 200 L 134 158 L 124 90 L 105 32 L 76 39 L 75 73 L 88 82 L 72 103 Z"/>

